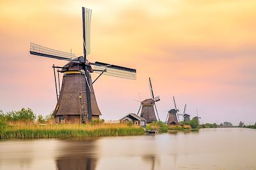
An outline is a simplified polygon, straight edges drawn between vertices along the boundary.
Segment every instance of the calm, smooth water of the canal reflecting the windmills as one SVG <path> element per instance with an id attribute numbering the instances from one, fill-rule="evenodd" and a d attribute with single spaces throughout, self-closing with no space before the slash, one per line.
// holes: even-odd
<path id="1" fill-rule="evenodd" d="M 0 169 L 254 169 L 256 130 L 0 141 Z"/>

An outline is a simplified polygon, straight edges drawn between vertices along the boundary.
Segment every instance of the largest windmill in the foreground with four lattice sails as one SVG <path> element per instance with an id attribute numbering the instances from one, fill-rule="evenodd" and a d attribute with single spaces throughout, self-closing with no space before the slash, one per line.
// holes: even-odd
<path id="1" fill-rule="evenodd" d="M 44 46 L 31 43 L 30 53 L 59 60 L 67 60 L 68 63 L 61 69 L 63 81 L 58 97 L 58 103 L 54 110 L 56 123 L 87 123 L 101 115 L 94 90 L 93 83 L 102 74 L 136 80 L 136 69 L 115 66 L 103 62 L 90 62 L 87 60 L 90 54 L 90 22 L 92 10 L 82 8 L 83 14 L 83 56 L 74 53 L 61 52 Z M 92 82 L 91 73 L 99 73 Z"/>

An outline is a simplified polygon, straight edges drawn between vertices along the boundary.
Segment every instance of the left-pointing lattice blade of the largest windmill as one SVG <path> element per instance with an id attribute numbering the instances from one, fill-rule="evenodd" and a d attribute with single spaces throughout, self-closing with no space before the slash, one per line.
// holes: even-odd
<path id="1" fill-rule="evenodd" d="M 30 51 L 33 55 L 39 55 L 42 57 L 49 57 L 59 60 L 74 60 L 77 58 L 76 54 L 61 52 L 59 50 L 54 50 L 52 48 L 47 48 L 45 46 L 37 45 L 35 43 L 30 43 Z"/>

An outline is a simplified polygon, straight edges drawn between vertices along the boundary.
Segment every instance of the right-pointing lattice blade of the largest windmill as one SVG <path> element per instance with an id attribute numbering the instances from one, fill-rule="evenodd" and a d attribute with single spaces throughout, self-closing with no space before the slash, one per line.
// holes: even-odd
<path id="1" fill-rule="evenodd" d="M 126 78 L 136 80 L 136 69 L 130 69 L 122 66 L 115 66 L 112 64 L 106 64 L 103 62 L 95 62 L 93 65 L 93 73 L 102 73 L 104 71 L 104 75 L 107 76 L 115 76 L 119 78 Z"/>

